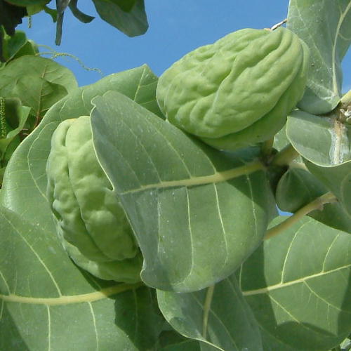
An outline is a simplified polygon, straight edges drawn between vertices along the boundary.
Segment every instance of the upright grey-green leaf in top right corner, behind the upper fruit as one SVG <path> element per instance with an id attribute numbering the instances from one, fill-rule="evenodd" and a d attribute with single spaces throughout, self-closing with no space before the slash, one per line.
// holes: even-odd
<path id="1" fill-rule="evenodd" d="M 287 27 L 311 52 L 310 76 L 299 107 L 313 114 L 333 110 L 341 97 L 341 60 L 351 42 L 349 0 L 291 0 Z"/>

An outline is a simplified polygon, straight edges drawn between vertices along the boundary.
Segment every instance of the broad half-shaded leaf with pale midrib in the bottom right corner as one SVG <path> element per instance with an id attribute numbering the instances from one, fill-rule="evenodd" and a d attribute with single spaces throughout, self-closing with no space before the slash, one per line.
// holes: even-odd
<path id="1" fill-rule="evenodd" d="M 237 277 L 264 350 L 329 350 L 351 332 L 351 237 L 345 232 L 304 218 L 264 241 Z"/>

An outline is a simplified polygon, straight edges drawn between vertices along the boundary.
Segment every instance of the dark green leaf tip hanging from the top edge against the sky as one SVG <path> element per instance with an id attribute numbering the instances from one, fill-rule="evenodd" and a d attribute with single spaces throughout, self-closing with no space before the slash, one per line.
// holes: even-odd
<path id="1" fill-rule="evenodd" d="M 121 4 L 119 4 L 119 2 Z M 102 20 L 116 27 L 128 37 L 144 34 L 149 27 L 144 0 L 135 1 L 93 0 L 96 11 Z M 126 12 L 128 9 L 128 12 Z"/>

